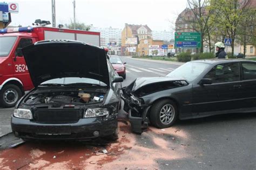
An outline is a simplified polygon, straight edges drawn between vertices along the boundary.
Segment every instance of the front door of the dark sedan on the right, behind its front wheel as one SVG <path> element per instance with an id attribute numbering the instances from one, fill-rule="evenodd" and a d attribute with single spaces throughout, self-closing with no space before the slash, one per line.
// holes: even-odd
<path id="1" fill-rule="evenodd" d="M 212 84 L 197 87 L 193 92 L 193 99 L 196 99 L 193 111 L 218 112 L 239 108 L 242 93 L 239 62 L 215 65 L 204 78 L 212 79 Z"/>

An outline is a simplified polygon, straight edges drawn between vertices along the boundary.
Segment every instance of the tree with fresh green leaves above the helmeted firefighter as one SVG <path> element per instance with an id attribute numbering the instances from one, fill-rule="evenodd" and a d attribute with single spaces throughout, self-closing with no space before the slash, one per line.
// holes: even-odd
<path id="1" fill-rule="evenodd" d="M 215 26 L 232 39 L 232 56 L 234 56 L 234 42 L 239 33 L 239 26 L 246 20 L 247 11 L 253 0 L 210 0 L 210 8 L 218 12 Z M 224 38 L 224 37 L 223 37 Z"/>

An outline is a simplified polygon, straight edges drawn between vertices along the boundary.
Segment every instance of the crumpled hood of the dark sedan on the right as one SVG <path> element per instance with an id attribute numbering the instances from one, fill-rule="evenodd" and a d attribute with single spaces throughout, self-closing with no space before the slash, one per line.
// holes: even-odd
<path id="1" fill-rule="evenodd" d="M 140 77 L 134 80 L 129 86 L 127 86 L 127 88 L 130 87 L 131 91 L 136 91 L 148 84 L 162 82 L 162 81 L 177 81 L 177 80 L 184 80 L 184 79 L 172 78 L 172 77 Z"/>

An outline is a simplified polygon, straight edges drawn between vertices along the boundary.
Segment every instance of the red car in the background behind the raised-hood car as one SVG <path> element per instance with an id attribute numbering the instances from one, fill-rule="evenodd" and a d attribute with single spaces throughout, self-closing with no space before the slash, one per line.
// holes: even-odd
<path id="1" fill-rule="evenodd" d="M 126 69 L 125 64 L 119 56 L 110 56 L 110 63 L 114 67 L 114 70 L 118 73 L 119 76 L 126 78 Z"/>

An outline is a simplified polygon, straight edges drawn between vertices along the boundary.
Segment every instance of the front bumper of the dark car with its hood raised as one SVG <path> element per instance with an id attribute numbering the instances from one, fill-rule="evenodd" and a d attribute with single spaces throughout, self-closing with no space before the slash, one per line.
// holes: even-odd
<path id="1" fill-rule="evenodd" d="M 93 140 L 116 131 L 117 115 L 79 119 L 72 124 L 42 124 L 12 116 L 11 127 L 15 136 L 23 139 Z"/>

